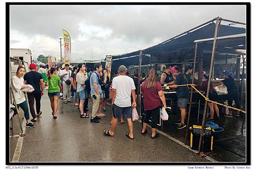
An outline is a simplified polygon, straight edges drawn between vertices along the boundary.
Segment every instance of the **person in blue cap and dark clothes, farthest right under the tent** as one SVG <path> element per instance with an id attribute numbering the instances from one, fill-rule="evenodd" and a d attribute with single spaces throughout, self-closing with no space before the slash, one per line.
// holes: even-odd
<path id="1" fill-rule="evenodd" d="M 224 78 L 224 80 L 222 80 L 220 83 L 218 84 L 214 84 L 213 86 L 220 86 L 221 84 L 224 84 L 228 90 L 228 94 L 226 95 L 226 98 L 228 100 L 228 104 L 229 106 L 232 107 L 232 103 L 233 100 L 236 104 L 236 108 L 240 108 L 240 99 L 239 99 L 239 94 L 238 94 L 238 90 L 236 87 L 236 84 L 234 82 L 234 78 L 232 77 L 232 73 L 229 73 L 228 71 L 224 71 L 222 78 Z M 228 115 L 224 115 L 226 117 L 233 117 L 233 112 L 232 109 L 229 108 L 229 114 Z M 240 116 L 239 113 L 236 113 L 234 116 Z"/>

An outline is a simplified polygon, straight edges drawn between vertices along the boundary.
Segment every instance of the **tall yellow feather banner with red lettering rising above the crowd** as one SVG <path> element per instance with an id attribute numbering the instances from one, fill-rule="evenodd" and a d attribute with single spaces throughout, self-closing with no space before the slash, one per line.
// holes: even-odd
<path id="1" fill-rule="evenodd" d="M 64 47 L 64 63 L 69 64 L 69 58 L 71 57 L 71 38 L 69 33 L 62 29 L 63 31 L 63 47 Z"/>

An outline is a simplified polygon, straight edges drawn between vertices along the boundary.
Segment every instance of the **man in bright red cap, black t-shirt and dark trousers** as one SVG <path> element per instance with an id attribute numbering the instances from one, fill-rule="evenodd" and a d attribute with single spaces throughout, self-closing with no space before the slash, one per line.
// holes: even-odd
<path id="1" fill-rule="evenodd" d="M 27 93 L 28 104 L 30 105 L 30 113 L 32 122 L 36 122 L 36 117 L 39 117 L 42 112 L 41 108 L 41 96 L 44 94 L 44 80 L 42 74 L 36 71 L 36 65 L 34 63 L 30 64 L 30 72 L 24 75 L 24 82 L 30 84 L 34 87 L 35 91 Z M 36 114 L 34 109 L 34 101 L 36 101 Z"/>

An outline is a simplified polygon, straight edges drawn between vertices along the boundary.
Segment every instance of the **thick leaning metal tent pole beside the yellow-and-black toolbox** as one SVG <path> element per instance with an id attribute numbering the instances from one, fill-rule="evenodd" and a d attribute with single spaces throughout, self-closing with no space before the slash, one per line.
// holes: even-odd
<path id="1" fill-rule="evenodd" d="M 217 36 L 218 36 L 218 27 L 219 27 L 219 21 L 220 18 L 217 17 L 216 19 L 216 27 L 215 27 L 215 33 L 214 33 L 214 40 L 213 40 L 213 46 L 212 46 L 212 58 L 210 60 L 210 73 L 209 73 L 209 79 L 208 79 L 208 86 L 207 86 L 207 98 L 209 96 L 209 90 L 210 90 L 210 81 L 212 79 L 212 70 L 213 70 L 213 63 L 214 63 L 214 54 L 215 54 L 215 49 L 216 49 L 216 44 L 217 44 Z M 207 107 L 208 107 L 208 102 L 205 100 L 205 105 L 204 105 L 204 114 L 203 114 L 203 122 L 201 125 L 201 134 L 200 134 L 200 139 L 199 139 L 199 147 L 198 147 L 198 153 L 200 153 L 201 150 L 201 143 L 204 135 L 204 124 L 205 124 L 205 117 L 206 117 L 206 112 L 207 112 Z"/>

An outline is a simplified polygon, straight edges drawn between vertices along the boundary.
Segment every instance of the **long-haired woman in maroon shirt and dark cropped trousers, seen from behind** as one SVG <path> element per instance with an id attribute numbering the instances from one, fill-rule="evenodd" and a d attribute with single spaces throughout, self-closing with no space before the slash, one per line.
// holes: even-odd
<path id="1" fill-rule="evenodd" d="M 143 93 L 143 104 L 146 111 L 141 134 L 145 135 L 147 133 L 146 127 L 151 118 L 151 138 L 158 138 L 159 134 L 156 133 L 156 124 L 158 122 L 160 107 L 163 105 L 166 109 L 166 98 L 164 97 L 160 82 L 156 81 L 154 69 L 150 70 L 148 78 L 142 83 L 141 91 Z"/>

